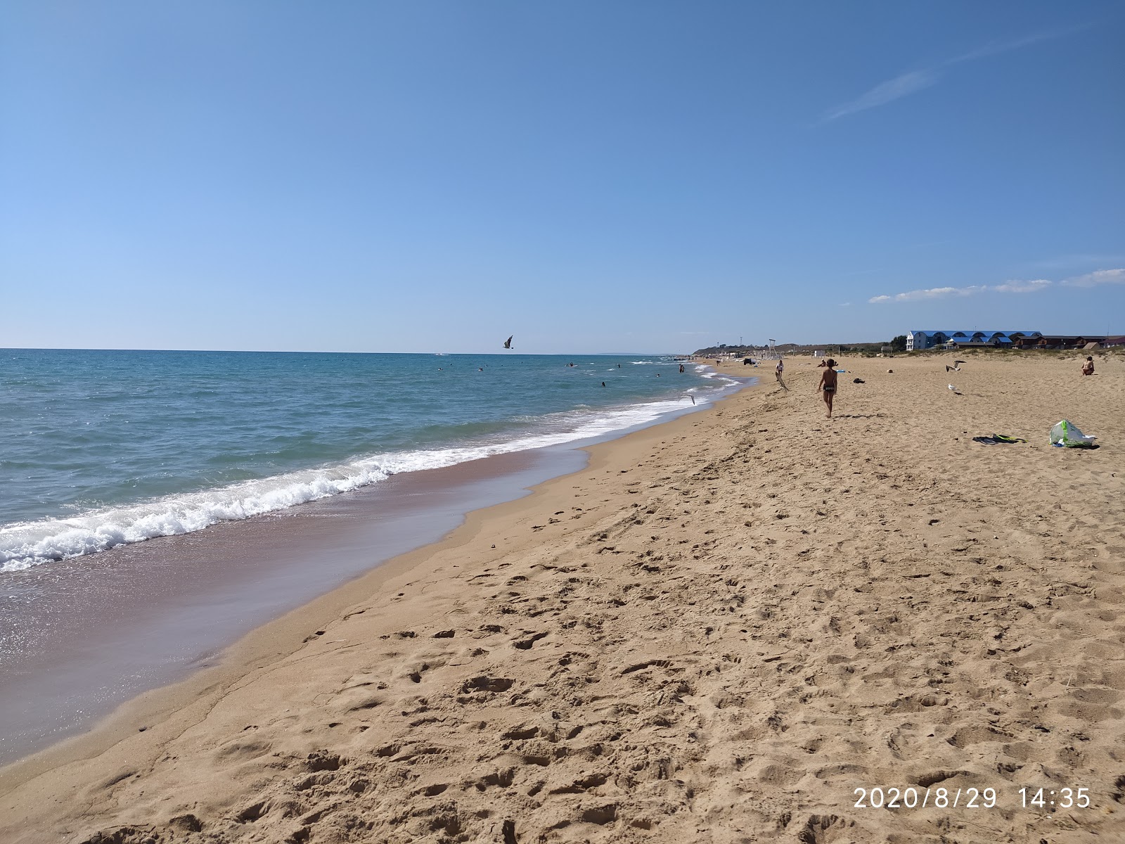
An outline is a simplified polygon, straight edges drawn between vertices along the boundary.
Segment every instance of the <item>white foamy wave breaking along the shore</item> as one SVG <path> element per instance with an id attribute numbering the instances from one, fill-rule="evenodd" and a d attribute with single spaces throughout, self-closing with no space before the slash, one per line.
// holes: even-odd
<path id="1" fill-rule="evenodd" d="M 704 404 L 705 398 L 699 406 Z M 533 432 L 508 440 L 372 455 L 346 464 L 170 495 L 129 506 L 93 510 L 70 519 L 8 524 L 0 528 L 0 572 L 30 568 L 154 537 L 191 533 L 220 521 L 246 519 L 336 495 L 398 473 L 604 437 L 681 410 L 684 410 L 682 398 L 600 413 L 568 411 L 538 417 Z"/>

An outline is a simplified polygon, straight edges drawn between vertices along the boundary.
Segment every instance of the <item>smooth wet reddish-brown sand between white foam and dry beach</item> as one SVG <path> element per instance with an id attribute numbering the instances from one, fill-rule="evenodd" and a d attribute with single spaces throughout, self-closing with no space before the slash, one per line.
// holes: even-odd
<path id="1" fill-rule="evenodd" d="M 552 448 L 396 475 L 206 531 L 4 573 L 0 764 L 216 663 L 254 627 L 439 540 L 585 455 Z"/>

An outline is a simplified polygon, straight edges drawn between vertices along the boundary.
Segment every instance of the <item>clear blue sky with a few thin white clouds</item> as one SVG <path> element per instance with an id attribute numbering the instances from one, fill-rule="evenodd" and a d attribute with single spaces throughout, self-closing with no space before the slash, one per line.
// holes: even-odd
<path id="1" fill-rule="evenodd" d="M 1119 2 L 0 5 L 0 347 L 1125 334 Z"/>

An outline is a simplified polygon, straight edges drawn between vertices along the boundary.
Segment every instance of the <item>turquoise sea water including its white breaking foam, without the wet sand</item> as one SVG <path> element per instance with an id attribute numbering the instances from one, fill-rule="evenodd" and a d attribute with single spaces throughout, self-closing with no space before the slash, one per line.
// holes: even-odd
<path id="1" fill-rule="evenodd" d="M 0 571 L 602 437 L 731 386 L 678 369 L 637 356 L 0 350 Z"/>

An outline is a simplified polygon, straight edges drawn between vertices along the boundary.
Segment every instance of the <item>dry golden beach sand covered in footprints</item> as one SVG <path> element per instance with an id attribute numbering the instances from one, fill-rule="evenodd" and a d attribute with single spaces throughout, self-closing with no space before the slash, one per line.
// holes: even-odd
<path id="1" fill-rule="evenodd" d="M 9 767 L 0 839 L 1125 841 L 1125 361 L 946 360 L 844 360 L 827 422 L 794 359 L 596 447 L 266 628 L 292 653 Z"/>

